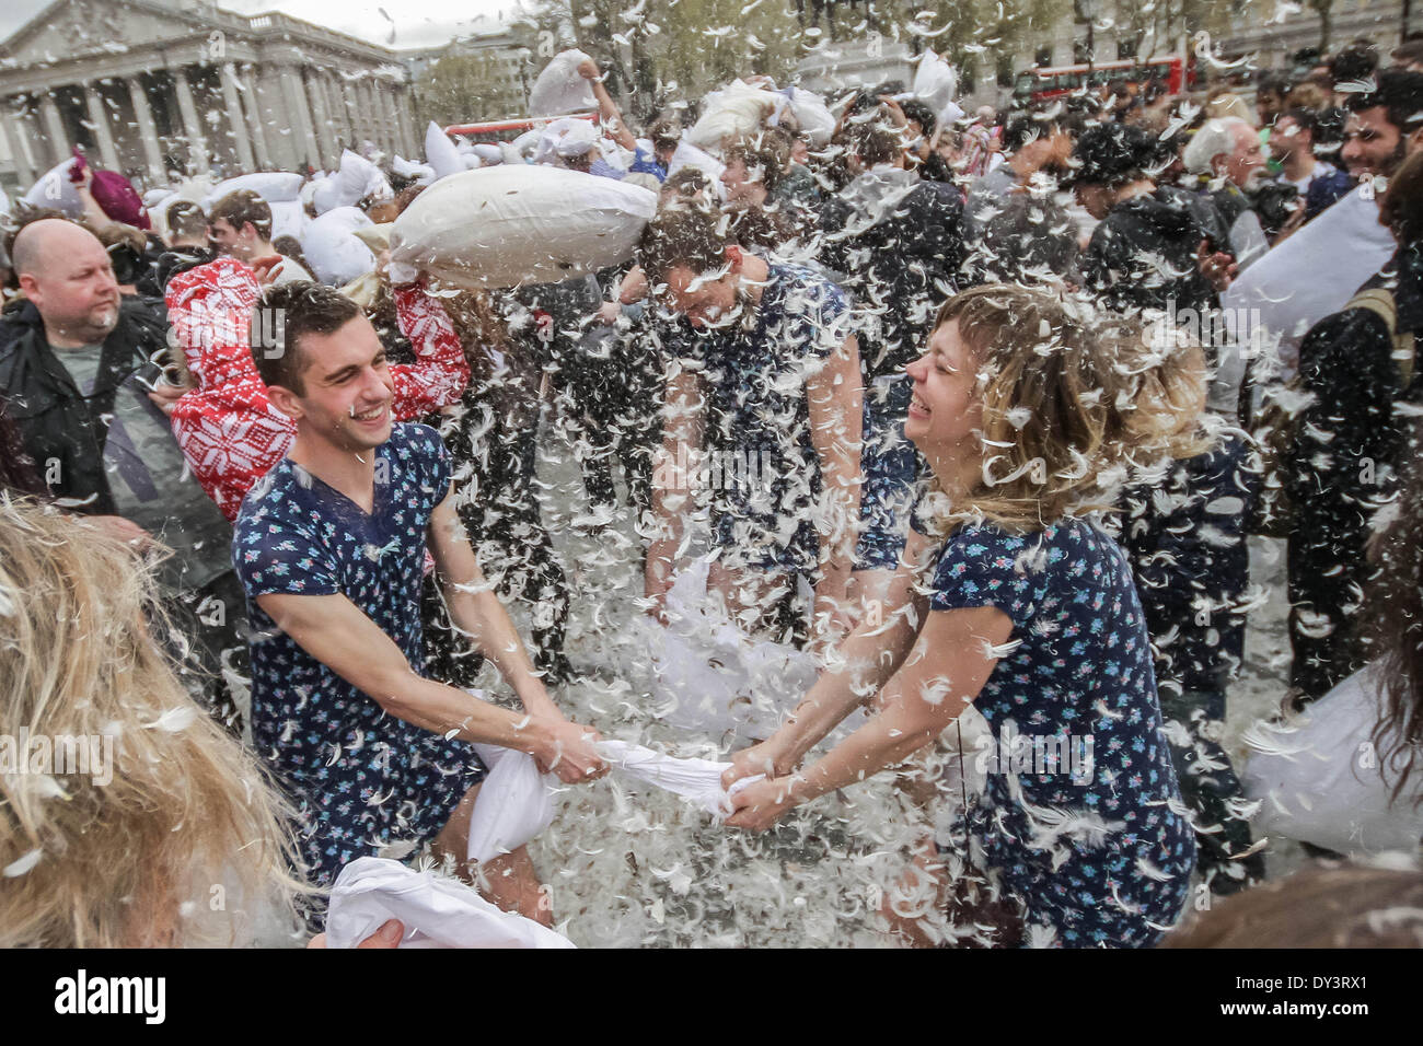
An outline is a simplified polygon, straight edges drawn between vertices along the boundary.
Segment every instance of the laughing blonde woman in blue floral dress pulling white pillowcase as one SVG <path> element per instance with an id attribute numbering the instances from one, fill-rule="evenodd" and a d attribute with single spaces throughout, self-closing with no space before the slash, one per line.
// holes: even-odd
<path id="1" fill-rule="evenodd" d="M 911 555 L 929 552 L 925 582 L 901 571 L 898 612 L 845 640 L 845 667 L 724 778 L 767 774 L 733 796 L 729 821 L 766 830 L 901 766 L 973 703 L 995 746 L 949 850 L 1012 902 L 1016 936 L 995 944 L 1153 945 L 1195 865 L 1141 603 L 1096 505 L 1133 455 L 1191 428 L 1204 370 L 1190 349 L 1131 366 L 1091 326 L 1046 290 L 995 285 L 943 306 L 908 367 L 905 434 L 938 485 L 921 507 L 936 555 L 911 539 Z M 868 720 L 797 771 L 875 687 Z"/>

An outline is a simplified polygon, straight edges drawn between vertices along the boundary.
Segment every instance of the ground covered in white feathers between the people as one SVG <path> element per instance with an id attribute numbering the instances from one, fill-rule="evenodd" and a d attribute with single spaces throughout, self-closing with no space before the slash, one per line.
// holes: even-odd
<path id="1" fill-rule="evenodd" d="M 586 514 L 586 495 L 572 461 L 566 443 L 544 440 L 544 519 L 573 586 L 568 653 L 586 673 L 586 682 L 559 693 L 561 703 L 606 736 L 721 757 L 731 739 L 656 720 L 633 602 L 642 575 L 630 512 L 622 508 L 595 532 L 575 524 Z M 1237 766 L 1245 757 L 1242 731 L 1278 704 L 1289 666 L 1282 542 L 1252 539 L 1251 571 L 1269 598 L 1252 613 L 1247 663 L 1229 694 L 1225 744 Z M 515 619 L 522 616 L 515 608 Z M 936 810 L 936 820 L 951 813 Z M 748 837 L 675 797 L 633 791 L 613 774 L 565 790 L 532 852 L 561 928 L 579 945 L 887 946 L 892 942 L 875 914 L 881 891 L 902 874 L 908 848 L 928 828 L 929 818 L 887 780 L 825 797 L 778 831 Z M 1298 845 L 1272 840 L 1266 860 L 1275 877 L 1302 855 Z M 904 902 L 926 899 L 921 891 Z"/>

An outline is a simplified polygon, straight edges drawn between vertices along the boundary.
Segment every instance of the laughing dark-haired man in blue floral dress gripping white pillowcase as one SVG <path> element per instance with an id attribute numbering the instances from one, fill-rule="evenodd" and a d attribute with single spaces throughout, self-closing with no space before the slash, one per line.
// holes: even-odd
<path id="1" fill-rule="evenodd" d="M 585 781 L 606 771 L 596 733 L 558 712 L 484 583 L 438 434 L 393 424 L 386 353 L 360 309 L 314 283 L 270 289 L 260 307 L 285 316 L 265 327 L 283 344 L 253 356 L 297 434 L 242 502 L 232 542 L 253 626 L 253 740 L 297 805 L 317 885 L 357 857 L 424 844 L 472 874 L 465 834 L 484 767 L 471 743 Z M 527 714 L 421 677 L 427 548 L 451 620 Z M 527 851 L 495 864 L 491 899 L 548 922 Z"/>

